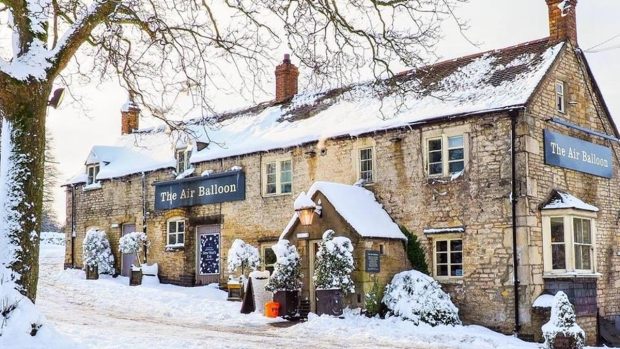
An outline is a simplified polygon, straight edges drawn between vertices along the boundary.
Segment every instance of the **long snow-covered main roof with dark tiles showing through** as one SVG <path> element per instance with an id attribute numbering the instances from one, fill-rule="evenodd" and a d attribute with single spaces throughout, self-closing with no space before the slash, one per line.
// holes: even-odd
<path id="1" fill-rule="evenodd" d="M 405 71 L 381 84 L 300 93 L 283 104 L 265 102 L 190 119 L 182 124 L 196 136 L 194 142 L 208 144 L 194 148 L 190 163 L 523 107 L 564 46 L 541 39 Z M 394 83 L 410 92 L 397 94 Z M 210 129 L 214 122 L 218 127 Z M 174 168 L 174 138 L 168 126 L 121 136 L 119 154 L 97 179 Z M 122 149 L 146 155 L 148 166 Z M 66 184 L 84 181 L 79 174 Z"/>

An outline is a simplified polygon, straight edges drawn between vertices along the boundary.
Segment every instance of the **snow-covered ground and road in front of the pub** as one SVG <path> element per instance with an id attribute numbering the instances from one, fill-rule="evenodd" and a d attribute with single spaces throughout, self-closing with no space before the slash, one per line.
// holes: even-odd
<path id="1" fill-rule="evenodd" d="M 240 314 L 212 287 L 129 287 L 127 278 L 87 281 L 62 270 L 64 246 L 42 244 L 37 306 L 56 330 L 84 348 L 539 348 L 479 326 L 426 327 L 397 318 L 310 316 L 281 320 Z M 53 349 L 53 348 L 48 348 Z"/>

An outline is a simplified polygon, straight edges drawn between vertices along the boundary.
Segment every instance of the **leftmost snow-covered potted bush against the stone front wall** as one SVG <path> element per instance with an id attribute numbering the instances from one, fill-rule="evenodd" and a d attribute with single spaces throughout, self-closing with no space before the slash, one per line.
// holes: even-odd
<path id="1" fill-rule="evenodd" d="M 114 274 L 114 255 L 103 230 L 87 231 L 82 251 L 84 269 L 97 267 L 99 274 Z"/>

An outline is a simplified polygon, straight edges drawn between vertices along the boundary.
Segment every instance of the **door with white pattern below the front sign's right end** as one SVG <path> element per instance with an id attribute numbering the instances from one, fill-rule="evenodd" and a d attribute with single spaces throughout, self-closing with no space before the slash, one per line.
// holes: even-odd
<path id="1" fill-rule="evenodd" d="M 220 281 L 220 225 L 196 227 L 196 285 Z"/>

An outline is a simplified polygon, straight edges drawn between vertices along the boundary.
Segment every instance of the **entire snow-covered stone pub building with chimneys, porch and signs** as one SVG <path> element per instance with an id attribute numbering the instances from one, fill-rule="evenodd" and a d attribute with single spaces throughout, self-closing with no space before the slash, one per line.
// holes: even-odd
<path id="1" fill-rule="evenodd" d="M 283 236 L 310 297 L 316 241 L 333 228 L 353 241 L 348 302 L 360 306 L 365 251 L 380 252 L 384 284 L 411 267 L 398 224 L 466 323 L 539 338 L 545 295 L 563 290 L 595 342 L 597 319 L 620 315 L 620 134 L 579 50 L 576 2 L 546 1 L 548 38 L 397 75 L 423 91 L 402 99 L 368 83 L 298 93 L 286 57 L 275 100 L 217 115 L 217 129 L 189 120 L 188 141 L 140 129 L 139 107 L 126 105 L 118 143 L 93 147 L 66 183 L 66 266 L 82 266 L 84 235 L 98 228 L 126 274 L 118 238 L 144 230 L 163 282 L 224 283 L 234 239 L 270 269 Z M 302 191 L 321 201 L 316 226 L 294 215 Z"/>

